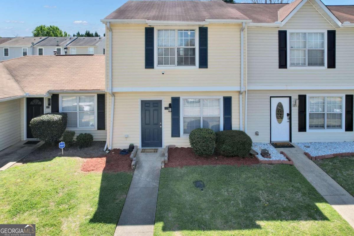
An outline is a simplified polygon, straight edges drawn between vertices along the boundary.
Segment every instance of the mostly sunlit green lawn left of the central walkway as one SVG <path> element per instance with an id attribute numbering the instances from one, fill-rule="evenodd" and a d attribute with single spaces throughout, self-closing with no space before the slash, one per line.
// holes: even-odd
<path id="1" fill-rule="evenodd" d="M 0 224 L 36 224 L 36 235 L 113 235 L 131 173 L 84 173 L 56 157 L 0 172 Z"/>

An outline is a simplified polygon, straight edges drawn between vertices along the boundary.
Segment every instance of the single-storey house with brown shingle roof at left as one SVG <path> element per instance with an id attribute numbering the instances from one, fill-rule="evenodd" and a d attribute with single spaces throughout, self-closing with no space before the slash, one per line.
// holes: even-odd
<path id="1" fill-rule="evenodd" d="M 102 55 L 25 56 L 0 62 L 0 150 L 33 138 L 29 121 L 68 114 L 68 130 L 104 141 L 106 103 Z M 103 148 L 103 147 L 102 147 Z"/>

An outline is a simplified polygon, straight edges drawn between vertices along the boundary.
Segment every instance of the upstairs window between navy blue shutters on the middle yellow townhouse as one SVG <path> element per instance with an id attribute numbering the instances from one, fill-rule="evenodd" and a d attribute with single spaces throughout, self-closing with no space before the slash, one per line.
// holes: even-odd
<path id="1" fill-rule="evenodd" d="M 195 30 L 157 31 L 158 66 L 195 66 Z"/>

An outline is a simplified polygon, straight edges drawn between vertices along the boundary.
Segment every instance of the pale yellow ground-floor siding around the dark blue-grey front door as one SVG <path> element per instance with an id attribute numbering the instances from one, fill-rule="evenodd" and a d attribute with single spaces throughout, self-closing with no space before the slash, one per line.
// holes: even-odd
<path id="1" fill-rule="evenodd" d="M 140 116 L 139 99 L 161 98 L 162 104 L 162 129 L 164 145 L 189 146 L 188 136 L 171 137 L 171 113 L 164 110 L 171 103 L 171 97 L 183 96 L 232 96 L 232 129 L 239 129 L 239 92 L 130 92 L 114 93 L 114 124 L 113 124 L 113 148 L 127 148 L 129 144 L 139 146 L 140 141 Z M 110 99 L 109 99 L 110 102 Z M 109 114 L 108 114 L 109 115 Z M 110 116 L 109 116 L 110 117 Z M 221 117 L 222 119 L 222 117 Z M 109 129 L 108 129 L 109 130 Z M 129 137 L 125 138 L 128 134 Z"/>

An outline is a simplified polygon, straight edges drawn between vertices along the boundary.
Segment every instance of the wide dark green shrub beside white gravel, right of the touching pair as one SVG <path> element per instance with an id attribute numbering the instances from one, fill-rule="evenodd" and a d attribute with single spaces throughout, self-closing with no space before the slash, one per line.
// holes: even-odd
<path id="1" fill-rule="evenodd" d="M 225 130 L 216 133 L 216 151 L 223 156 L 246 157 L 250 153 L 252 139 L 240 130 Z"/>

